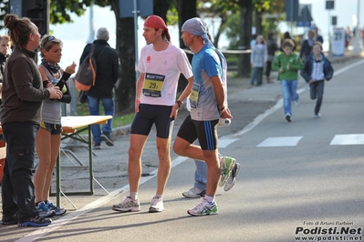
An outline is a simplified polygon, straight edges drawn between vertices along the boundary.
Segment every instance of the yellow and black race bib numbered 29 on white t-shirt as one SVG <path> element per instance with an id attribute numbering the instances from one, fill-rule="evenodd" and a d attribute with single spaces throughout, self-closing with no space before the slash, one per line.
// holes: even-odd
<path id="1" fill-rule="evenodd" d="M 165 76 L 146 73 L 143 85 L 143 95 L 151 97 L 161 97 Z"/>

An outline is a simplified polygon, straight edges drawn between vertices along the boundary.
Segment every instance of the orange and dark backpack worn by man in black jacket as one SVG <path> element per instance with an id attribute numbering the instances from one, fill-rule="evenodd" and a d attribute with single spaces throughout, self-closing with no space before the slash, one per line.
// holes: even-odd
<path id="1" fill-rule="evenodd" d="M 94 49 L 95 44 L 92 44 L 91 50 L 78 68 L 75 76 L 75 86 L 78 90 L 88 91 L 91 86 L 95 85 L 97 67 Z"/>

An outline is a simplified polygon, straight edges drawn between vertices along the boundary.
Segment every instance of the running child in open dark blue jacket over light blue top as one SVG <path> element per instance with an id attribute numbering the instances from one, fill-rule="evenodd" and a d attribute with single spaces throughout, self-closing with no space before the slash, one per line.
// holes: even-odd
<path id="1" fill-rule="evenodd" d="M 301 76 L 305 78 L 309 84 L 310 96 L 312 100 L 317 98 L 315 106 L 315 116 L 320 117 L 319 110 L 321 108 L 324 96 L 325 80 L 330 80 L 334 75 L 334 69 L 328 58 L 322 53 L 322 44 L 315 42 L 312 45 L 312 54 L 309 55 L 307 62 L 301 70 Z"/>

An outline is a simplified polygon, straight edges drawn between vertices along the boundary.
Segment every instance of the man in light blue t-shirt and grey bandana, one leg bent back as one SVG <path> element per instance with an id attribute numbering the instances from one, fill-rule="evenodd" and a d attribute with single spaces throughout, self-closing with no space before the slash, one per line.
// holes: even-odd
<path id="1" fill-rule="evenodd" d="M 180 156 L 206 162 L 206 196 L 199 205 L 187 212 L 192 216 L 214 215 L 218 214 L 214 197 L 221 175 L 216 126 L 220 117 L 233 117 L 226 106 L 226 60 L 210 42 L 207 26 L 200 18 L 191 18 L 182 25 L 181 38 L 184 45 L 194 53 L 194 80 L 190 95 L 191 115 L 183 121 L 173 150 Z M 196 139 L 199 140 L 200 146 L 192 145 Z M 231 162 L 227 165 L 228 168 L 234 166 Z"/>

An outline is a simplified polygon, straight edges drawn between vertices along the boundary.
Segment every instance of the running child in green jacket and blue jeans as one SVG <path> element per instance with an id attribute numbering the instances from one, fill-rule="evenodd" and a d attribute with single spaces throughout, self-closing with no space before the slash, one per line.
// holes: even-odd
<path id="1" fill-rule="evenodd" d="M 282 43 L 283 53 L 277 55 L 272 62 L 272 68 L 277 71 L 278 80 L 281 82 L 283 93 L 283 110 L 286 121 L 292 121 L 291 101 L 299 105 L 299 96 L 296 92 L 298 83 L 298 70 L 302 69 L 301 58 L 293 53 L 295 43 L 291 39 L 285 39 Z"/>

